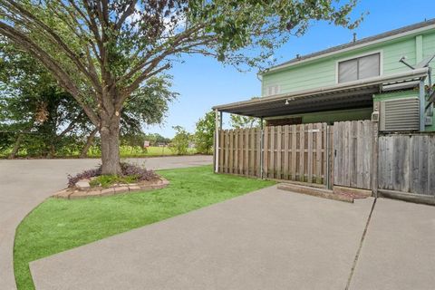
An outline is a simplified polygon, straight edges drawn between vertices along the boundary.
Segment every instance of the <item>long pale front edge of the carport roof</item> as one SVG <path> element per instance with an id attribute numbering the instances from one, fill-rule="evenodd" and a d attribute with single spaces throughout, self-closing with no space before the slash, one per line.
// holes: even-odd
<path id="1" fill-rule="evenodd" d="M 254 105 L 256 103 L 262 103 L 262 102 L 274 102 L 277 100 L 285 100 L 287 98 L 293 97 L 293 98 L 301 98 L 306 97 L 311 94 L 316 93 L 327 93 L 327 92 L 334 92 L 338 90 L 345 90 L 345 89 L 353 89 L 358 87 L 365 87 L 369 85 L 376 85 L 376 84 L 382 84 L 385 82 L 394 82 L 398 80 L 404 80 L 407 78 L 423 78 L 426 77 L 429 73 L 428 67 L 423 67 L 416 70 L 410 70 L 408 72 L 404 73 L 394 73 L 387 76 L 380 76 L 380 77 L 374 77 L 370 79 L 365 80 L 359 80 L 354 82 L 344 82 L 339 84 L 334 84 L 330 86 L 325 86 L 321 88 L 316 89 L 310 89 L 310 90 L 303 90 L 303 91 L 296 91 L 296 92 L 288 92 L 288 93 L 281 93 L 270 97 L 261 97 L 258 99 L 252 99 L 248 101 L 242 101 L 242 102 L 231 102 L 223 105 L 214 106 L 212 109 L 217 111 L 225 111 L 225 110 L 231 110 L 236 109 L 240 106 L 247 106 L 247 105 Z"/>

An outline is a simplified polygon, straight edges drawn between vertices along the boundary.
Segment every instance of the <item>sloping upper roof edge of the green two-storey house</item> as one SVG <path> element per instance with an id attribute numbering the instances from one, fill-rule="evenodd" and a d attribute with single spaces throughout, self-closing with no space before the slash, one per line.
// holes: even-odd
<path id="1" fill-rule="evenodd" d="M 266 69 L 264 72 L 260 72 L 259 74 L 273 73 L 275 71 L 280 71 L 280 70 L 285 69 L 285 68 L 290 67 L 290 66 L 294 66 L 294 65 L 297 65 L 297 64 L 301 64 L 301 63 L 311 62 L 311 61 L 318 60 L 318 59 L 321 59 L 321 58 L 324 58 L 324 57 L 332 56 L 334 54 L 349 52 L 349 51 L 356 50 L 356 49 L 359 49 L 359 48 L 362 48 L 362 47 L 370 46 L 372 44 L 383 43 L 383 42 L 387 42 L 387 41 L 390 41 L 390 40 L 393 40 L 393 39 L 396 39 L 396 38 L 401 38 L 401 37 L 404 37 L 404 36 L 409 36 L 411 34 L 419 34 L 421 32 L 424 32 L 424 31 L 427 31 L 427 30 L 430 30 L 430 29 L 435 29 L 435 23 L 433 23 L 434 20 L 435 19 L 428 20 L 429 22 L 432 22 L 432 23 L 428 24 L 427 26 L 423 26 L 423 27 L 419 27 L 419 28 L 416 28 L 416 29 L 412 29 L 410 31 L 403 32 L 401 34 L 393 34 L 393 35 L 390 35 L 390 36 L 387 36 L 387 37 L 382 37 L 382 38 L 378 38 L 378 39 L 372 40 L 372 41 L 367 42 L 367 43 L 361 43 L 361 44 L 351 45 L 351 46 L 344 47 L 343 49 L 339 49 L 339 50 L 336 50 L 336 51 L 333 51 L 333 52 L 330 52 L 330 53 L 321 53 L 321 54 L 315 55 L 313 57 L 307 57 L 307 58 L 302 59 L 300 61 L 295 61 L 293 63 L 288 63 L 287 62 L 287 63 L 278 64 L 278 65 L 276 65 L 274 67 Z M 401 28 L 399 28 L 399 29 L 401 29 Z M 385 32 L 383 34 L 388 34 L 390 32 L 391 31 Z M 367 38 L 371 38 L 371 37 L 376 37 L 376 35 L 369 36 Z M 364 38 L 362 38 L 359 42 L 362 42 L 363 40 L 364 40 Z M 346 43 L 344 43 L 342 45 L 345 45 L 345 44 Z M 348 44 L 352 44 L 352 43 L 348 43 Z M 341 46 L 341 45 L 338 45 L 338 46 Z M 330 49 L 332 49 L 332 48 L 330 48 Z M 292 62 L 292 60 L 290 60 L 289 62 Z"/>

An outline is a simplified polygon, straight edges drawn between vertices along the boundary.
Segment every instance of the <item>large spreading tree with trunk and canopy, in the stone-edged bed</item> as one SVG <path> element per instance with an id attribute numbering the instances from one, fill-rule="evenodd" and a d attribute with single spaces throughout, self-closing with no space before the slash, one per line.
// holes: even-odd
<path id="1" fill-rule="evenodd" d="M 121 172 L 121 111 L 183 53 L 242 67 L 311 20 L 353 28 L 357 0 L 0 0 L 0 34 L 53 73 L 102 138 L 102 173 Z M 247 49 L 250 48 L 250 49 Z"/>

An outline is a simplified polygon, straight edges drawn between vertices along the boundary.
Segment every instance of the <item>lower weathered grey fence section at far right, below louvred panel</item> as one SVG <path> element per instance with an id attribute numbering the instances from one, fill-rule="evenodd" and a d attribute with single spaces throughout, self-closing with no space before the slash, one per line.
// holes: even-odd
<path id="1" fill-rule="evenodd" d="M 435 196 L 435 134 L 379 138 L 379 189 Z"/>

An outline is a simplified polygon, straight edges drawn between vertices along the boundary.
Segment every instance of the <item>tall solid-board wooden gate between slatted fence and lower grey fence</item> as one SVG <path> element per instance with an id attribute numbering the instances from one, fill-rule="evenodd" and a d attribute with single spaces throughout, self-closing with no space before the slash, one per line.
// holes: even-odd
<path id="1" fill-rule="evenodd" d="M 372 189 L 372 122 L 333 123 L 333 184 Z"/>

